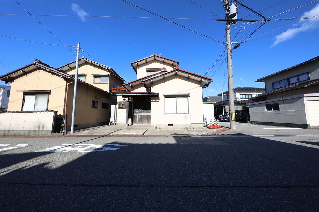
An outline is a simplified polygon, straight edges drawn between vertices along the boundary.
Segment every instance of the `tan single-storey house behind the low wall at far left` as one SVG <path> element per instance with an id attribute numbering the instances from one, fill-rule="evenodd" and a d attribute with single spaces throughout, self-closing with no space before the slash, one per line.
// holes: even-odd
<path id="1" fill-rule="evenodd" d="M 72 64 L 69 66 L 72 67 Z M 89 69 L 89 67 L 90 65 L 86 68 Z M 31 64 L 0 76 L 0 80 L 6 83 L 11 82 L 8 110 L 55 111 L 56 114 L 66 114 L 69 119 L 67 128 L 70 129 L 74 91 L 72 75 L 40 60 L 34 60 Z M 110 105 L 114 104 L 114 95 L 108 92 L 108 87 L 105 89 L 107 90 L 78 80 L 74 129 L 108 124 L 111 114 Z M 15 120 L 15 122 L 24 121 Z"/>

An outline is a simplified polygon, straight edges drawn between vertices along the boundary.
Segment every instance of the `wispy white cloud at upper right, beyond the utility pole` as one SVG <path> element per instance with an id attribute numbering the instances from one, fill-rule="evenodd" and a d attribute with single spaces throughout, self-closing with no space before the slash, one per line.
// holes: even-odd
<path id="1" fill-rule="evenodd" d="M 319 4 L 317 4 L 313 9 L 310 11 L 305 12 L 302 17 L 311 17 L 314 14 L 319 14 Z M 297 33 L 299 32 L 307 32 L 308 30 L 314 29 L 318 26 L 318 23 L 312 24 L 317 22 L 317 18 L 310 18 L 310 19 L 300 19 L 296 24 L 293 26 L 299 27 L 296 29 L 288 29 L 286 32 L 283 32 L 276 36 L 275 42 L 272 44 L 271 47 L 276 46 L 278 43 L 286 41 L 288 39 L 292 39 Z M 301 26 L 301 27 L 300 27 Z"/>

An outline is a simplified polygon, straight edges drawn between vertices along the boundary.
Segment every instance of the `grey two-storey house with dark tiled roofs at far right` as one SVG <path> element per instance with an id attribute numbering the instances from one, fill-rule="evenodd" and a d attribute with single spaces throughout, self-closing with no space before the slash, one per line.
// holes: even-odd
<path id="1" fill-rule="evenodd" d="M 266 93 L 252 97 L 250 120 L 256 124 L 319 127 L 319 56 L 262 77 Z"/>

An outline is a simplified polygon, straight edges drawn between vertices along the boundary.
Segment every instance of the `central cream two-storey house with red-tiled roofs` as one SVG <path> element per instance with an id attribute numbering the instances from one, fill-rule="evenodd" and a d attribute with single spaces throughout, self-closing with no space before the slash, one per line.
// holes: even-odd
<path id="1" fill-rule="evenodd" d="M 202 88 L 211 79 L 178 65 L 156 53 L 132 62 L 137 80 L 112 89 L 117 93 L 117 124 L 203 127 Z"/>

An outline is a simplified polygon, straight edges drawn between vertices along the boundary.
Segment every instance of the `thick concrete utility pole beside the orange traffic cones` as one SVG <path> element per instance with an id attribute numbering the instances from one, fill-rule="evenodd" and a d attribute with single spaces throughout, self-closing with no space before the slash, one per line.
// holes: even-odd
<path id="1" fill-rule="evenodd" d="M 229 1 L 224 0 L 226 19 L 228 18 Z M 233 66 L 232 66 L 232 47 L 230 38 L 230 21 L 226 21 L 226 39 L 227 39 L 227 68 L 228 68 L 228 94 L 229 94 L 229 122 L 230 129 L 236 129 L 235 105 L 234 105 L 234 86 L 233 86 Z"/>

